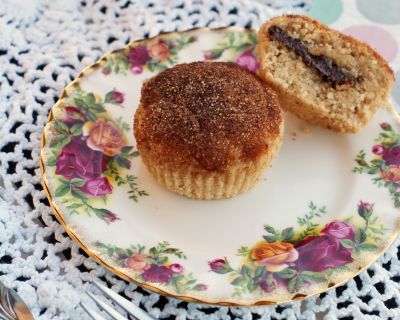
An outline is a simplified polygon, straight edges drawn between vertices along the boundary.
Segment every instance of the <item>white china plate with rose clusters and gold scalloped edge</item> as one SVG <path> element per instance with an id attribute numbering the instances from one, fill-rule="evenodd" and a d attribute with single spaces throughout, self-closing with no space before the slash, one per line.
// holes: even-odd
<path id="1" fill-rule="evenodd" d="M 285 115 L 272 168 L 236 198 L 194 201 L 149 176 L 132 134 L 143 81 L 203 59 L 256 72 L 255 44 L 236 28 L 134 42 L 86 68 L 51 110 L 47 196 L 71 237 L 122 278 L 189 301 L 281 303 L 347 281 L 395 240 L 400 134 L 383 111 L 355 135 Z"/>

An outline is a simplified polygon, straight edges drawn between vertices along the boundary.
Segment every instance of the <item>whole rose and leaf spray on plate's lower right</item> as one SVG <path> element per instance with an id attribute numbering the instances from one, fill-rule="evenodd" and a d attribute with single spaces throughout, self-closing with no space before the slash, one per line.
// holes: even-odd
<path id="1" fill-rule="evenodd" d="M 263 241 L 238 250 L 242 262 L 237 268 L 226 258 L 215 259 L 209 262 L 210 271 L 227 275 L 235 296 L 270 293 L 279 287 L 294 294 L 327 282 L 335 273 L 348 271 L 361 254 L 379 250 L 386 229 L 373 215 L 373 207 L 361 201 L 358 215 L 321 225 L 317 219 L 326 208 L 310 202 L 308 212 L 297 219 L 298 228 L 265 225 Z"/>

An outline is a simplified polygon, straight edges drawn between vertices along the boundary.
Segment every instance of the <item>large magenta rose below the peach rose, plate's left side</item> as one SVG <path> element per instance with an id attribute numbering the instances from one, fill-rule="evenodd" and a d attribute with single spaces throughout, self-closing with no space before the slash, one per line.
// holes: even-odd
<path id="1" fill-rule="evenodd" d="M 71 142 L 61 149 L 56 162 L 56 174 L 67 179 L 82 178 L 91 180 L 100 177 L 106 170 L 103 154 L 94 151 L 80 137 L 73 137 Z"/>

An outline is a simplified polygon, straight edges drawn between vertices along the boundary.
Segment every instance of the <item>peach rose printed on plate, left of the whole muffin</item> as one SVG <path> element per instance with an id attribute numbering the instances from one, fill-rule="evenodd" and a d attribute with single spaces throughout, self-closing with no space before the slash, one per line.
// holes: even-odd
<path id="1" fill-rule="evenodd" d="M 106 156 L 113 157 L 127 145 L 127 140 L 121 130 L 112 122 L 102 118 L 95 122 L 88 121 L 83 125 L 83 135 L 87 138 L 89 148 L 101 151 Z"/>

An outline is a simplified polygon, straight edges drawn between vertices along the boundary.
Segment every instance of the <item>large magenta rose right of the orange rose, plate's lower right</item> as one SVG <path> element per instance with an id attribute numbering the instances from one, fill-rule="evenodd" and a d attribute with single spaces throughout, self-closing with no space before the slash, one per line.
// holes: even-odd
<path id="1" fill-rule="evenodd" d="M 300 271 L 321 272 L 353 261 L 351 249 L 344 248 L 337 238 L 329 235 L 309 236 L 296 249 L 299 253 L 296 267 Z"/>

